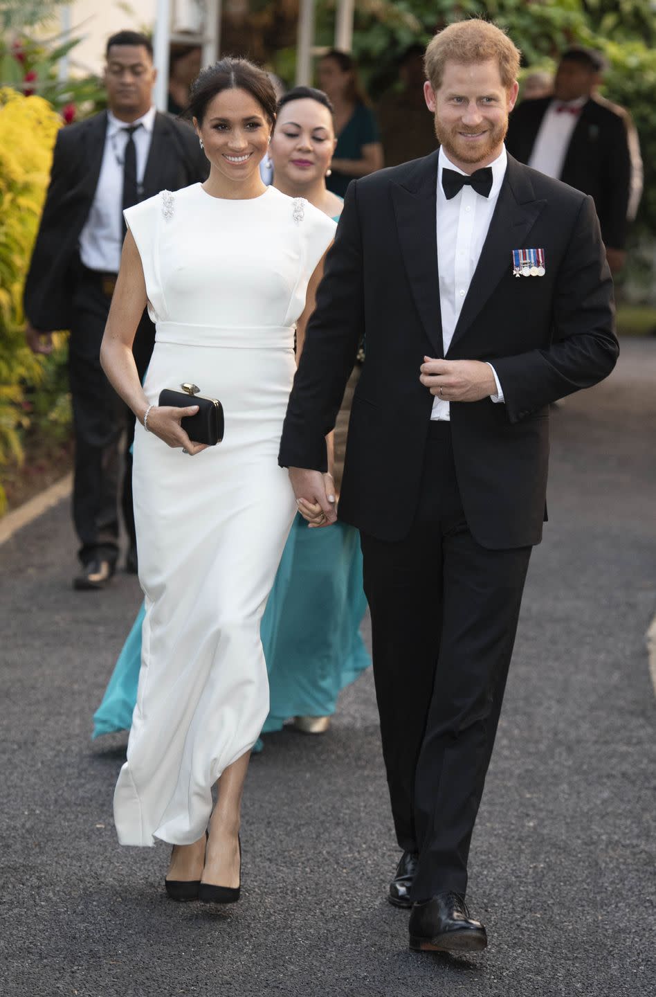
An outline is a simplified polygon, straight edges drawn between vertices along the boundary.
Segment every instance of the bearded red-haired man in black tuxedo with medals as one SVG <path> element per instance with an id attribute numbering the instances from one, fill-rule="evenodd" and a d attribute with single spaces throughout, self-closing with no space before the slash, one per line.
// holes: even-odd
<path id="1" fill-rule="evenodd" d="M 506 155 L 518 60 L 479 20 L 429 45 L 441 149 L 349 187 L 280 446 L 306 518 L 334 521 L 325 436 L 364 334 L 339 516 L 361 533 L 403 849 L 390 900 L 418 950 L 487 944 L 468 856 L 546 518 L 549 403 L 618 353 L 591 197 Z"/>

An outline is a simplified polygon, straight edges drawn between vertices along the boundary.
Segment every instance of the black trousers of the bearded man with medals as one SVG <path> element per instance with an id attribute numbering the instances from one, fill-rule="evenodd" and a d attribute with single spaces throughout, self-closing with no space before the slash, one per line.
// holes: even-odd
<path id="1" fill-rule="evenodd" d="M 465 895 L 530 547 L 472 536 L 449 423 L 432 423 L 410 534 L 361 534 L 383 755 L 413 899 Z"/>

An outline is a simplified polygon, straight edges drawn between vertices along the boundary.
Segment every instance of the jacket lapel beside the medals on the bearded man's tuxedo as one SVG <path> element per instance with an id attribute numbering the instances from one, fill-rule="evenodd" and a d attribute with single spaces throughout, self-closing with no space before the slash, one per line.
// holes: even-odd
<path id="1" fill-rule="evenodd" d="M 512 266 L 512 250 L 528 247 L 526 237 L 546 204 L 536 200 L 529 171 L 508 156 L 503 183 L 463 309 L 449 347 L 450 351 L 465 335 L 485 307 L 492 291 Z"/>

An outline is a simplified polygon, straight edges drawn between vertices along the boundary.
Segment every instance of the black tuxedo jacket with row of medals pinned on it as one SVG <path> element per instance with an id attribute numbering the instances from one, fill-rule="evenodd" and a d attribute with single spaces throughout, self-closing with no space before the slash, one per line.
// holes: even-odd
<path id="1" fill-rule="evenodd" d="M 402 539 L 413 521 L 433 406 L 420 365 L 444 355 L 437 168 L 435 153 L 349 185 L 280 445 L 282 467 L 325 471 L 325 436 L 364 333 L 339 515 L 386 540 Z M 544 250 L 543 277 L 513 276 L 521 248 Z M 548 404 L 606 377 L 617 354 L 592 199 L 508 157 L 447 357 L 490 361 L 505 397 L 451 404 L 458 481 L 481 544 L 539 542 Z"/>

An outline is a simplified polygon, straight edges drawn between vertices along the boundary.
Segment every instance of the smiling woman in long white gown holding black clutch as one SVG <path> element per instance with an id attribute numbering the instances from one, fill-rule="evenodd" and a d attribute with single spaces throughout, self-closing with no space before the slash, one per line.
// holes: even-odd
<path id="1" fill-rule="evenodd" d="M 115 823 L 123 844 L 174 845 L 165 884 L 175 899 L 238 897 L 241 791 L 269 709 L 260 619 L 296 511 L 278 444 L 295 329 L 302 336 L 335 229 L 260 179 L 275 104 L 266 74 L 245 60 L 200 74 L 189 111 L 209 177 L 125 212 L 101 354 L 137 417 L 147 606 Z M 147 302 L 157 336 L 142 388 L 131 348 Z M 193 405 L 158 406 L 164 388 L 183 382 L 222 403 L 216 447 L 182 429 Z"/>

